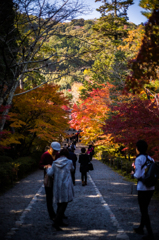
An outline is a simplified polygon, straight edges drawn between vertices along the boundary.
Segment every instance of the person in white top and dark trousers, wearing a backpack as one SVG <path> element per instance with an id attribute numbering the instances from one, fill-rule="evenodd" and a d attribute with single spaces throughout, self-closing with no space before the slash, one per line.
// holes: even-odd
<path id="1" fill-rule="evenodd" d="M 137 183 L 137 191 L 138 191 L 138 203 L 141 212 L 141 221 L 138 228 L 134 228 L 134 232 L 138 234 L 144 234 L 144 226 L 147 229 L 148 235 L 143 236 L 142 240 L 153 240 L 154 235 L 152 232 L 152 227 L 150 223 L 150 218 L 148 214 L 148 206 L 152 195 L 154 193 L 155 187 L 146 187 L 143 182 L 140 180 L 145 173 L 147 166 L 145 165 L 143 168 L 142 166 L 146 162 L 146 151 L 148 145 L 144 140 L 139 140 L 136 143 L 136 153 L 137 157 L 135 159 L 135 173 L 134 177 L 138 179 Z M 151 161 L 154 161 L 150 156 L 147 156 Z"/>

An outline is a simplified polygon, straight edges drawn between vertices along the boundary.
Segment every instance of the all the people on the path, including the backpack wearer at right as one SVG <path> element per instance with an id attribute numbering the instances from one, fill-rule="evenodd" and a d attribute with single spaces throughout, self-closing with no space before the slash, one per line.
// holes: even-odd
<path id="1" fill-rule="evenodd" d="M 147 168 L 147 166 L 144 165 L 146 159 L 149 158 L 150 161 L 154 161 L 150 156 L 147 156 L 147 148 L 148 145 L 144 140 L 139 140 L 136 143 L 137 156 L 135 160 L 135 170 L 131 174 L 138 179 L 137 191 L 141 221 L 139 227 L 134 228 L 134 232 L 137 234 L 144 234 L 145 226 L 148 235 L 143 236 L 142 239 L 153 240 L 154 235 L 148 214 L 148 206 L 155 187 L 146 187 L 141 180 Z M 88 164 L 92 160 L 93 154 L 94 148 L 92 145 L 88 147 L 87 151 L 86 148 L 81 148 L 79 163 L 82 186 L 87 185 Z M 66 218 L 64 213 L 67 204 L 73 200 L 74 196 L 73 184 L 75 185 L 76 161 L 77 156 L 74 153 L 74 149 L 70 146 L 64 146 L 64 148 L 61 149 L 58 142 L 52 142 L 48 151 L 41 156 L 40 169 L 44 170 L 44 179 L 47 176 L 45 182 L 47 209 L 50 219 L 54 221 L 53 226 L 56 230 L 62 230 L 60 227 L 66 226 L 63 219 Z M 143 165 L 144 167 L 142 167 Z M 53 209 L 52 202 L 57 204 L 56 213 Z"/>

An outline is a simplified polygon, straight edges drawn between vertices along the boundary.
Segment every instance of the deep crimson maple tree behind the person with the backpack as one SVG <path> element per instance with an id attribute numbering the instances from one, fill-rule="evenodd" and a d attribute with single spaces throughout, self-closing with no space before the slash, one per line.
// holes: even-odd
<path id="1" fill-rule="evenodd" d="M 144 139 L 149 153 L 159 159 L 159 109 L 155 99 L 128 96 L 126 101 L 111 107 L 112 116 L 105 121 L 105 135 L 111 135 L 114 143 L 124 145 L 135 154 L 135 143 Z"/>

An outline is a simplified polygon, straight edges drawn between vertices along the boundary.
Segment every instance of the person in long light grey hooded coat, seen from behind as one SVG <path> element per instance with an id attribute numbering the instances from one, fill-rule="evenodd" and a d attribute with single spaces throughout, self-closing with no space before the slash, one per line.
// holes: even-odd
<path id="1" fill-rule="evenodd" d="M 57 213 L 53 226 L 56 230 L 62 230 L 60 226 L 66 226 L 62 219 L 68 202 L 73 200 L 74 189 L 71 171 L 74 170 L 72 160 L 68 159 L 67 149 L 60 151 L 60 157 L 47 169 L 47 174 L 53 176 L 53 202 L 57 203 Z"/>

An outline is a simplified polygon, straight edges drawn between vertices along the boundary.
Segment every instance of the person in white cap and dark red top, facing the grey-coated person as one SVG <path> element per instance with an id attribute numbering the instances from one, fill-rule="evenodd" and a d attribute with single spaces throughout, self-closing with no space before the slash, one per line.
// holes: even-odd
<path id="1" fill-rule="evenodd" d="M 53 178 L 48 177 L 46 174 L 46 169 L 52 165 L 53 161 L 55 161 L 59 157 L 58 151 L 60 151 L 61 146 L 58 142 L 52 142 L 50 148 L 44 152 L 41 156 L 39 162 L 39 168 L 44 170 L 44 185 L 45 185 L 45 194 L 46 194 L 46 204 L 47 210 L 51 220 L 55 218 L 55 211 L 53 209 Z"/>

